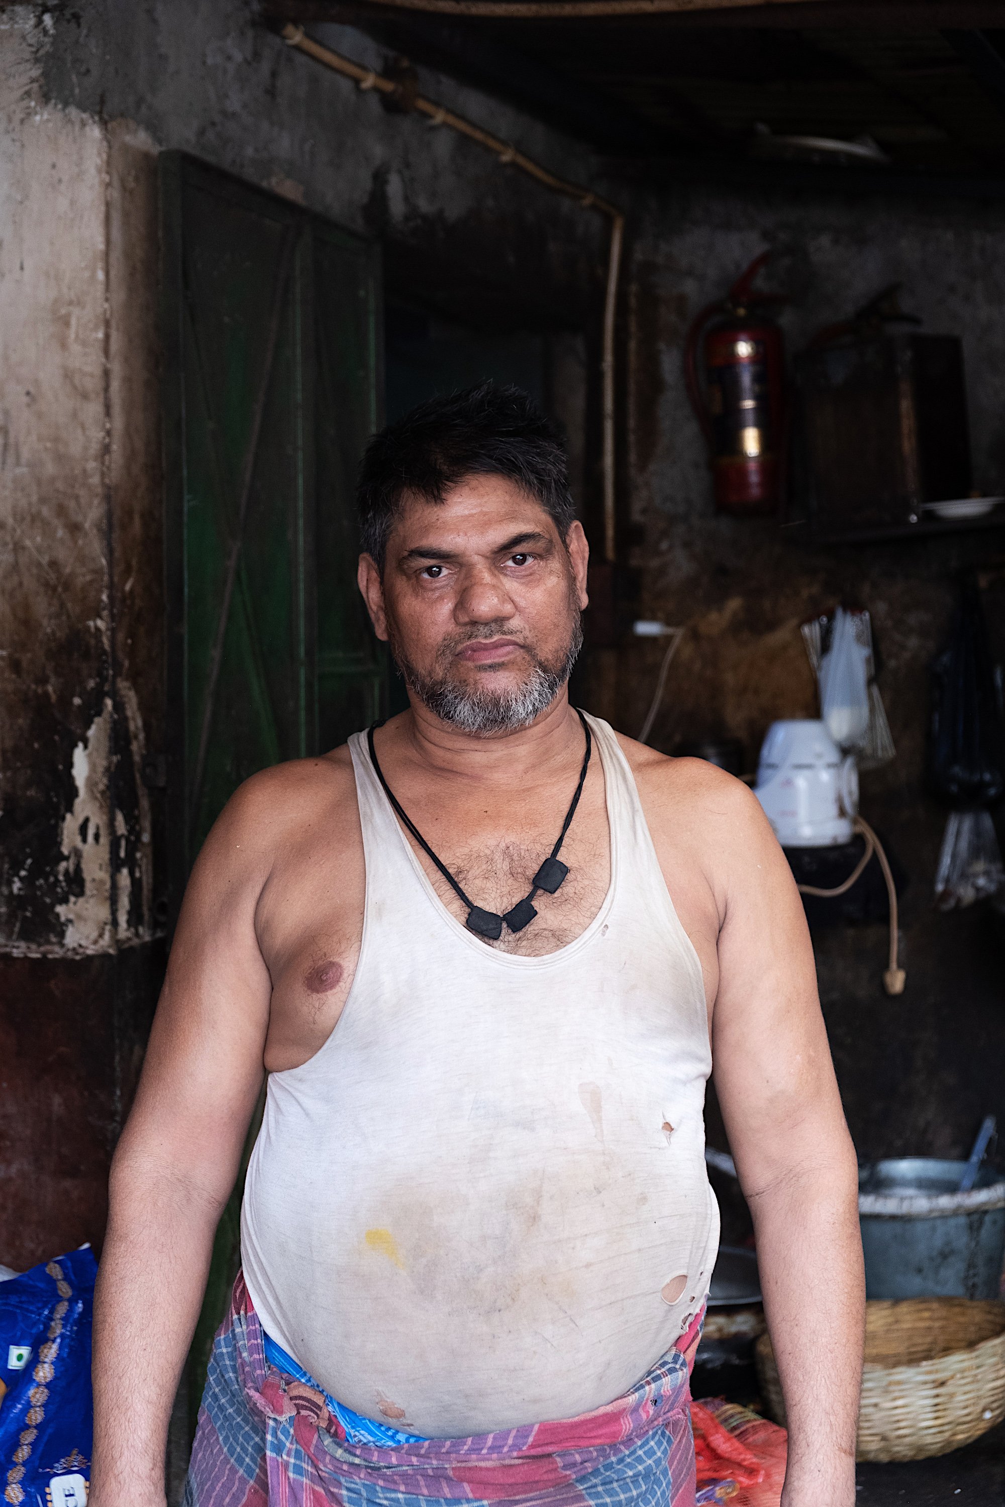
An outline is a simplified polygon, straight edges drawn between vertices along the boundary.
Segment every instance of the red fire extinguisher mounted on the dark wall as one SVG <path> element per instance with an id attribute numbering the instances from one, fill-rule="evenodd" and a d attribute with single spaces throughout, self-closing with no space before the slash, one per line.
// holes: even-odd
<path id="1" fill-rule="evenodd" d="M 764 312 L 780 294 L 753 291 L 767 262 L 762 252 L 725 298 L 707 304 L 687 332 L 684 380 L 711 458 L 716 508 L 737 517 L 776 512 L 785 446 L 785 357 L 782 332 Z M 753 312 L 756 309 L 756 312 Z M 705 333 L 705 389 L 699 345 Z"/>

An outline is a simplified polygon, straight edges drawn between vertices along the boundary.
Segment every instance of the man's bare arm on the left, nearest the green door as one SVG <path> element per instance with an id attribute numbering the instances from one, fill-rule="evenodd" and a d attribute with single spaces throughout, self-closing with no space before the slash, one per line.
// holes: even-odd
<path id="1" fill-rule="evenodd" d="M 170 1409 L 264 1076 L 271 987 L 255 907 L 276 778 L 243 787 L 193 870 L 115 1154 L 95 1293 L 93 1507 L 164 1502 Z"/>

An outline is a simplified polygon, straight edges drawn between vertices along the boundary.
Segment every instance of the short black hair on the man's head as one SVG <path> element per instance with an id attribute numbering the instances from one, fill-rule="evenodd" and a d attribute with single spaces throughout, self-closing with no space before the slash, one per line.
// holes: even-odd
<path id="1" fill-rule="evenodd" d="M 366 446 L 356 502 L 360 546 L 378 570 L 405 499 L 443 502 L 466 476 L 515 482 L 554 518 L 562 538 L 576 518 L 557 428 L 520 387 L 484 381 L 429 398 Z"/>

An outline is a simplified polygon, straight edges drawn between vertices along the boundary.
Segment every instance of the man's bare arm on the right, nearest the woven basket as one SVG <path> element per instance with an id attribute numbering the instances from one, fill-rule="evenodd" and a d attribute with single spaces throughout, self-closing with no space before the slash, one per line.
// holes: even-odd
<path id="1" fill-rule="evenodd" d="M 865 1322 L 856 1154 L 790 867 L 753 796 L 720 790 L 714 1079 L 785 1392 L 782 1501 L 851 1507 Z"/>

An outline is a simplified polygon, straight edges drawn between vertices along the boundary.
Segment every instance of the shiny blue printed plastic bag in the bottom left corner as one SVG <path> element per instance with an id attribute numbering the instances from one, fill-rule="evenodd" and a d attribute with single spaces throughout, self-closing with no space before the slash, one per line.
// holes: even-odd
<path id="1" fill-rule="evenodd" d="M 89 1245 L 0 1282 L 0 1501 L 86 1507 L 93 1436 Z"/>

